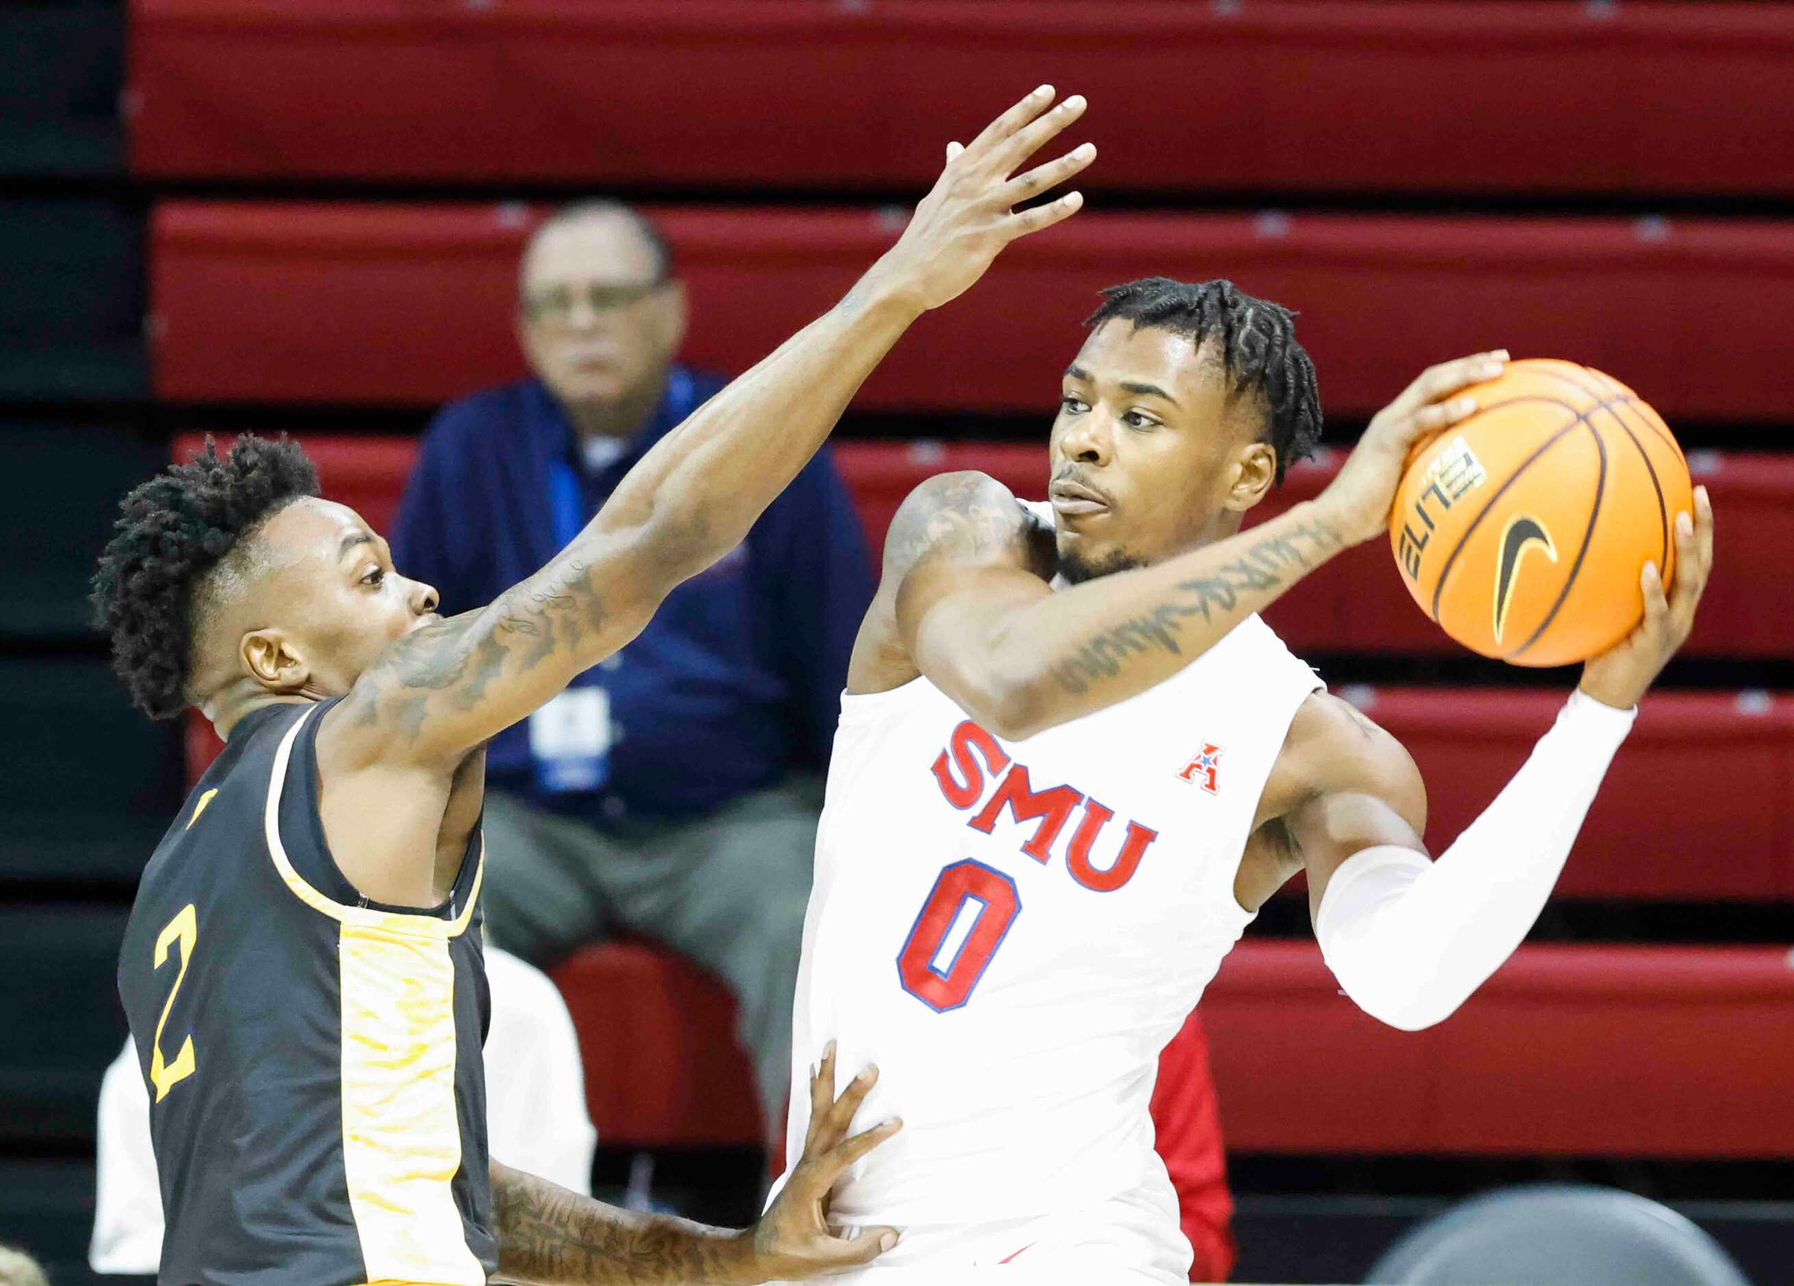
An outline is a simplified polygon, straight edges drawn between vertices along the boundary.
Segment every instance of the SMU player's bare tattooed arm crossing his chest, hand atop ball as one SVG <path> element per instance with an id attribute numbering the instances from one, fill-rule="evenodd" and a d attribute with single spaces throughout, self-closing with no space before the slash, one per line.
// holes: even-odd
<path id="1" fill-rule="evenodd" d="M 1475 407 L 1459 391 L 1493 378 L 1503 359 L 1482 353 L 1421 375 L 1319 499 L 1057 594 L 1014 556 L 992 556 L 1001 486 L 931 479 L 892 524 L 881 597 L 917 671 L 997 735 L 1091 714 L 1164 682 L 1333 554 L 1383 534 L 1408 448 L 1467 416 Z M 1057 499 L 1080 500 L 1076 484 L 1060 486 Z"/>

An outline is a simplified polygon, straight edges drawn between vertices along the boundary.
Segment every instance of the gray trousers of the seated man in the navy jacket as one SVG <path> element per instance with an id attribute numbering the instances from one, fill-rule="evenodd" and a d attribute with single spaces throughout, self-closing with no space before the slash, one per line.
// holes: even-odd
<path id="1" fill-rule="evenodd" d="M 793 778 L 698 821 L 597 830 L 488 791 L 486 933 L 547 963 L 628 929 L 721 978 L 773 1143 L 791 1082 L 791 999 L 820 809 L 820 782 Z"/>

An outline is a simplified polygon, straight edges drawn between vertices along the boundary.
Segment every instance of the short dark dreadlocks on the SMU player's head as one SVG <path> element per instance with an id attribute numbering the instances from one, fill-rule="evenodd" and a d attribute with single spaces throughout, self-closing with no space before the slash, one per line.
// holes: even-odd
<path id="1" fill-rule="evenodd" d="M 1315 364 L 1295 341 L 1295 314 L 1270 300 L 1256 300 L 1232 282 L 1173 282 L 1148 276 L 1110 285 L 1085 326 L 1132 321 L 1188 335 L 1195 344 L 1216 341 L 1234 389 L 1256 389 L 1270 407 L 1270 445 L 1277 452 L 1277 482 L 1292 459 L 1313 456 L 1320 441 L 1320 387 Z"/>

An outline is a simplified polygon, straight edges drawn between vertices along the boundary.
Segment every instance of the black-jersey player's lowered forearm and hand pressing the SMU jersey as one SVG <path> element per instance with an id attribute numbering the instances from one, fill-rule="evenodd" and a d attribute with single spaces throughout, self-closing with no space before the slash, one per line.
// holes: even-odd
<path id="1" fill-rule="evenodd" d="M 712 1229 L 664 1214 L 637 1214 L 569 1193 L 545 1178 L 492 1162 L 499 1273 L 529 1286 L 608 1282 L 806 1281 L 863 1264 L 897 1245 L 895 1229 L 852 1238 L 829 1230 L 829 1191 L 872 1148 L 901 1128 L 884 1121 L 849 1135 L 854 1112 L 877 1083 L 868 1067 L 834 1096 L 834 1046 L 811 1076 L 804 1157 L 752 1229 Z"/>

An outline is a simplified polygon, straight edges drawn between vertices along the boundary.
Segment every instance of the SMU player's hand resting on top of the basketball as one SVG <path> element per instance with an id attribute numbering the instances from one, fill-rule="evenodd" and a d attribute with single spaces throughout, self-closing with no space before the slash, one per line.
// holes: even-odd
<path id="1" fill-rule="evenodd" d="M 1401 396 L 1376 413 L 1338 477 L 1320 493 L 1335 527 L 1349 543 L 1389 531 L 1389 509 L 1396 504 L 1396 488 L 1414 443 L 1475 414 L 1476 400 L 1462 391 L 1493 380 L 1505 366 L 1505 348 L 1428 366 Z"/>

